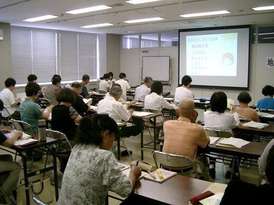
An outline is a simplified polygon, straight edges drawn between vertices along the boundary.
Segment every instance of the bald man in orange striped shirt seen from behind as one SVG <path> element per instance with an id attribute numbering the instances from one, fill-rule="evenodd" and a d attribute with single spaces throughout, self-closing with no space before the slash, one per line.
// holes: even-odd
<path id="1" fill-rule="evenodd" d="M 196 157 L 197 148 L 198 146 L 205 148 L 210 140 L 203 126 L 195 123 L 197 114 L 191 99 L 181 100 L 176 113 L 180 116 L 178 120 L 169 120 L 163 124 L 163 152 L 189 157 L 195 161 L 198 175 L 201 175 L 204 171 L 204 163 L 200 156 Z M 182 167 L 182 170 L 185 175 L 193 176 L 192 168 Z"/>

